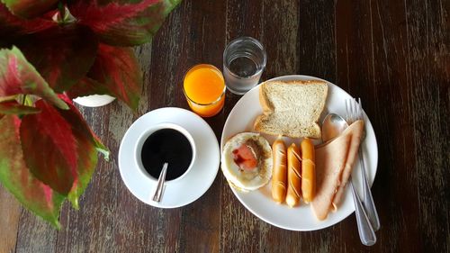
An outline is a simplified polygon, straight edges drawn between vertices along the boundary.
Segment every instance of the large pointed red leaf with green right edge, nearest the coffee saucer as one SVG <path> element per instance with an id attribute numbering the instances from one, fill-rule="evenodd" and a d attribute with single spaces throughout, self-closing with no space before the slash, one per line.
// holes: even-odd
<path id="1" fill-rule="evenodd" d="M 77 209 L 97 165 L 97 151 L 107 158 L 109 150 L 96 139 L 74 105 L 58 110 L 40 100 L 36 106 L 42 113 L 23 117 L 21 126 L 23 152 L 28 154 L 25 161 L 33 175 L 60 194 L 67 194 Z"/>

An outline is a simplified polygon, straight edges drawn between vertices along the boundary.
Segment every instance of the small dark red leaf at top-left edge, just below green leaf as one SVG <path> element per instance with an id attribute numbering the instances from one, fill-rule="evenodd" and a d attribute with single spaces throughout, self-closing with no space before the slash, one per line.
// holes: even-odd
<path id="1" fill-rule="evenodd" d="M 11 39 L 14 36 L 40 32 L 56 26 L 51 20 L 35 18 L 24 20 L 11 14 L 6 6 L 0 3 L 0 38 Z"/>

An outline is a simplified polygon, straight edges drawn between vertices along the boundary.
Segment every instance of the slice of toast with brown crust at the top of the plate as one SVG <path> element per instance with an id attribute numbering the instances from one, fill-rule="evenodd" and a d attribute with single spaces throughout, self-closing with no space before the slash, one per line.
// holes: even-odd
<path id="1" fill-rule="evenodd" d="M 271 81 L 259 87 L 263 114 L 254 123 L 256 131 L 292 138 L 319 139 L 317 123 L 327 100 L 329 86 L 323 81 Z"/>

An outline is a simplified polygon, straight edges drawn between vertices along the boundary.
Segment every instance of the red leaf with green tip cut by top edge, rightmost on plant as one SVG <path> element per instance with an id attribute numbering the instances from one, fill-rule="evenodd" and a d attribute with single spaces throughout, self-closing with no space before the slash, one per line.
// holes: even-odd
<path id="1" fill-rule="evenodd" d="M 79 23 L 89 26 L 104 43 L 130 47 L 151 41 L 166 15 L 180 2 L 83 0 L 69 6 L 69 9 Z"/>

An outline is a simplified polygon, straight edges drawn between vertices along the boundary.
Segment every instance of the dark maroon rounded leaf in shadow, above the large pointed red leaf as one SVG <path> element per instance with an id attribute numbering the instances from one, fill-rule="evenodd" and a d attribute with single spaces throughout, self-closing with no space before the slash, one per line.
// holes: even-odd
<path id="1" fill-rule="evenodd" d="M 97 40 L 84 25 L 65 25 L 24 37 L 17 46 L 49 85 L 62 93 L 94 64 Z"/>

